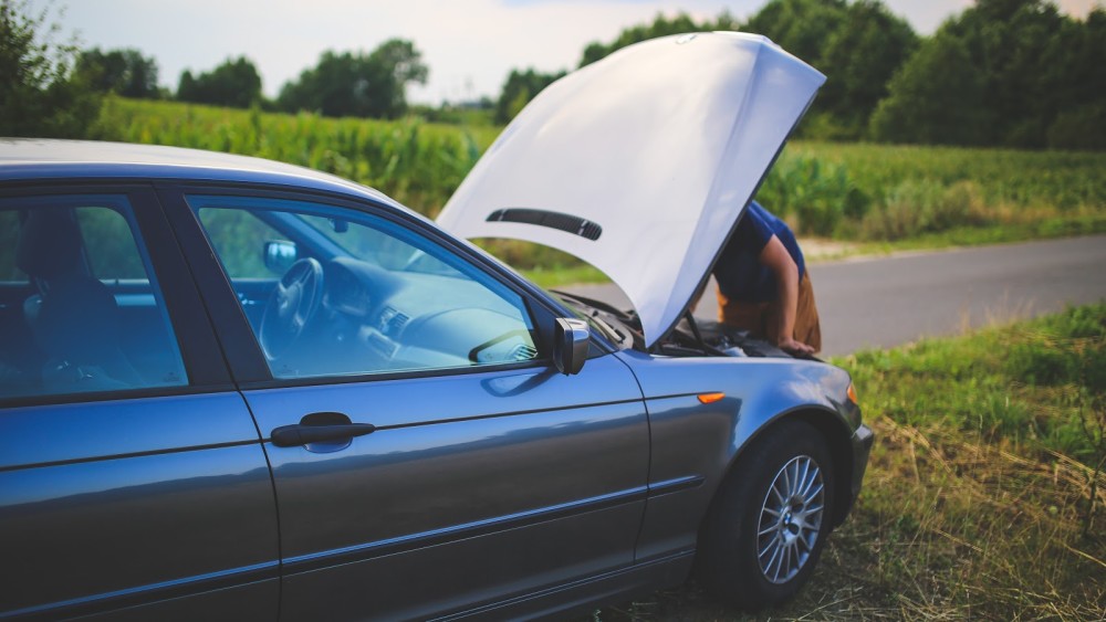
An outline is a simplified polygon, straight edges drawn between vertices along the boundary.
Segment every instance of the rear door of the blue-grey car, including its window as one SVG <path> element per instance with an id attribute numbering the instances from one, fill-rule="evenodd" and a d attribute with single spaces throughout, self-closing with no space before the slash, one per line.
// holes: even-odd
<path id="1" fill-rule="evenodd" d="M 153 190 L 0 189 L 0 618 L 274 618 L 264 451 Z"/>

